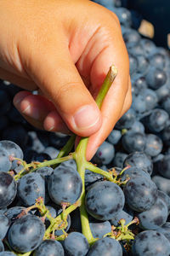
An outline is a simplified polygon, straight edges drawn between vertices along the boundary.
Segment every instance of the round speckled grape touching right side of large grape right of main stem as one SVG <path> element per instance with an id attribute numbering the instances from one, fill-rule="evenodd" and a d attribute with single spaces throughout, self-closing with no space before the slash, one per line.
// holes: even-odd
<path id="1" fill-rule="evenodd" d="M 133 177 L 124 187 L 127 205 L 136 212 L 150 209 L 157 199 L 156 184 L 146 177 Z"/>

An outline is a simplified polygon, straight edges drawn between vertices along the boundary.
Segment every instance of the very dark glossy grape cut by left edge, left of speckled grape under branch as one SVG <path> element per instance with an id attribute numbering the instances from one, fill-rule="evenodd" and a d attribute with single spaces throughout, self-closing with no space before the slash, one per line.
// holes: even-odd
<path id="1" fill-rule="evenodd" d="M 14 201 L 16 192 L 14 178 L 7 172 L 0 172 L 0 208 L 8 207 Z"/>

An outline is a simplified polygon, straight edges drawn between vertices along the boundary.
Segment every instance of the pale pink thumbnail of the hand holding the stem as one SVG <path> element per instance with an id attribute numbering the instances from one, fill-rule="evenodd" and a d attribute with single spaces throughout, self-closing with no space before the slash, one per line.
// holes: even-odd
<path id="1" fill-rule="evenodd" d="M 88 129 L 98 125 L 100 121 L 99 108 L 94 105 L 86 105 L 80 108 L 73 116 L 74 123 L 78 129 Z"/>

